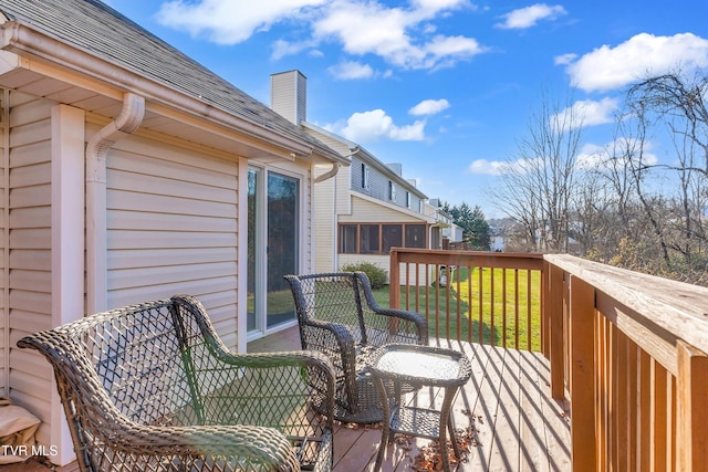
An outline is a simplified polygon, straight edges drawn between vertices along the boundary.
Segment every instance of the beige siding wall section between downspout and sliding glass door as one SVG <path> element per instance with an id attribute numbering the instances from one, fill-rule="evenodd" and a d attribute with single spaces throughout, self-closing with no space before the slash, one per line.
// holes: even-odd
<path id="1" fill-rule="evenodd" d="M 107 168 L 108 306 L 195 295 L 236 348 L 238 162 L 129 136 Z"/>

